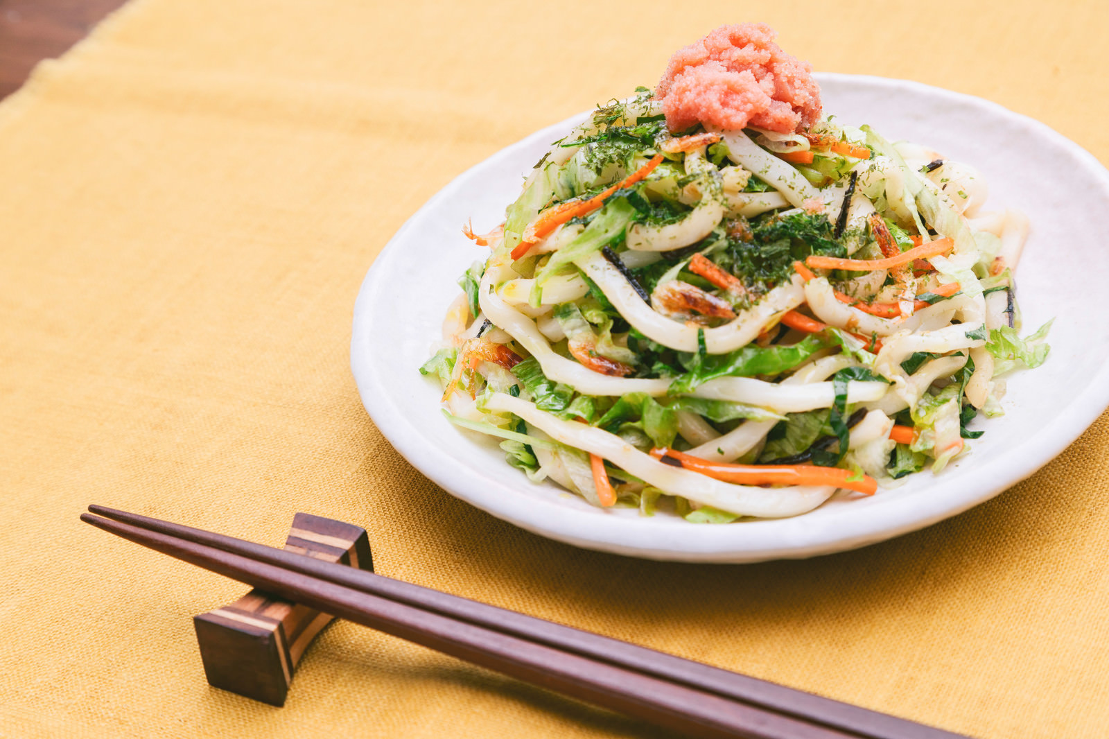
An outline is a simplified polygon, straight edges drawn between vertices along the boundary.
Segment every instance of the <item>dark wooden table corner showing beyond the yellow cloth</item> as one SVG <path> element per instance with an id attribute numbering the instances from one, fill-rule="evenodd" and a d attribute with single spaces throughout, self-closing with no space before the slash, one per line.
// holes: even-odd
<path id="1" fill-rule="evenodd" d="M 0 98 L 40 59 L 58 57 L 125 0 L 0 0 Z"/>

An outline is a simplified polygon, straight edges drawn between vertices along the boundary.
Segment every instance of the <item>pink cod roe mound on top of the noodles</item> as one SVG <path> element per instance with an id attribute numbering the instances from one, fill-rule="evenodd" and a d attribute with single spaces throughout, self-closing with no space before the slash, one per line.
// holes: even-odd
<path id="1" fill-rule="evenodd" d="M 654 90 L 670 130 L 703 123 L 793 133 L 815 123 L 821 89 L 813 67 L 783 51 L 776 36 L 765 23 L 736 23 L 679 49 Z"/>

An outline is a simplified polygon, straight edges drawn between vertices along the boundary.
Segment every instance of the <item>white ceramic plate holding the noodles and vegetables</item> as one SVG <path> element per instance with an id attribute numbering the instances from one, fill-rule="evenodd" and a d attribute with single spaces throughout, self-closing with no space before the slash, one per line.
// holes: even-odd
<path id="1" fill-rule="evenodd" d="M 366 275 L 350 363 L 386 438 L 446 490 L 530 532 L 653 559 L 741 563 L 810 557 L 912 532 L 977 505 L 1062 452 L 1109 405 L 1109 323 L 1090 310 L 1109 274 L 1109 172 L 1042 123 L 994 103 L 915 82 L 820 75 L 825 113 L 869 123 L 977 166 L 986 209 L 1016 207 L 1032 231 L 1017 270 L 1025 333 L 1057 317 L 1047 363 L 1008 379 L 1006 415 L 940 475 L 922 473 L 869 498 L 834 498 L 794 518 L 696 525 L 675 516 L 602 510 L 558 486 L 532 485 L 496 443 L 449 424 L 436 382 L 417 367 L 439 337 L 457 277 L 488 249 L 461 233 L 503 220 L 521 176 L 578 117 L 539 131 L 465 172 L 397 232 Z"/>

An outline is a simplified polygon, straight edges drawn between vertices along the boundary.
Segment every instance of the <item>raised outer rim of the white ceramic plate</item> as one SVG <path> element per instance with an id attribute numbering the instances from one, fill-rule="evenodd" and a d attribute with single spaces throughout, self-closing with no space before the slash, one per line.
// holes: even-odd
<path id="1" fill-rule="evenodd" d="M 827 81 L 871 85 L 879 89 L 896 88 L 898 91 L 907 89 L 932 97 L 947 98 L 959 104 L 971 104 L 989 110 L 996 115 L 1031 129 L 1036 134 L 1046 136 L 1056 145 L 1065 149 L 1083 165 L 1083 169 L 1100 181 L 1102 194 L 1109 201 L 1109 171 L 1091 153 L 1041 121 L 976 95 L 912 80 L 836 72 L 817 73 L 816 77 L 822 84 Z M 1046 439 L 1046 442 L 1027 449 L 1025 447 L 1028 446 L 1028 443 L 1021 443 L 1006 451 L 1000 458 L 993 460 L 989 465 L 968 468 L 958 478 L 958 484 L 954 486 L 956 493 L 963 493 L 962 495 L 955 493 L 937 494 L 925 502 L 927 505 L 923 508 L 897 505 L 898 499 L 891 498 L 885 505 L 882 505 L 883 508 L 889 510 L 886 512 L 886 516 L 878 517 L 878 520 L 882 522 L 881 526 L 869 524 L 875 517 L 867 516 L 859 519 L 851 517 L 848 512 L 844 509 L 821 518 L 820 526 L 815 529 L 813 526 L 788 525 L 790 522 L 805 522 L 805 515 L 782 519 L 743 522 L 726 526 L 690 524 L 688 526 L 691 528 L 685 528 L 684 525 L 675 522 L 660 524 L 651 518 L 631 519 L 600 516 L 592 510 L 578 510 L 560 506 L 538 496 L 520 495 L 505 496 L 496 500 L 488 499 L 481 494 L 479 486 L 488 484 L 490 478 L 482 478 L 480 470 L 474 468 L 465 468 L 461 476 L 459 476 L 458 469 L 447 469 L 441 464 L 441 459 L 437 458 L 435 452 L 428 449 L 419 429 L 390 399 L 387 384 L 377 376 L 372 352 L 368 351 L 368 331 L 370 328 L 368 305 L 373 300 L 375 287 L 388 277 L 388 265 L 390 261 L 397 259 L 396 255 L 400 251 L 404 236 L 428 212 L 435 211 L 441 202 L 457 196 L 456 191 L 460 190 L 479 171 L 512 158 L 519 150 L 532 145 L 540 139 L 549 140 L 552 134 L 564 131 L 588 113 L 589 111 L 578 113 L 540 129 L 454 178 L 424 203 L 393 235 L 367 271 L 355 301 L 350 366 L 363 405 L 385 438 L 400 455 L 450 495 L 533 534 L 589 549 L 647 559 L 700 563 L 754 563 L 781 558 L 805 558 L 854 549 L 894 538 L 925 528 L 979 505 L 1026 479 L 1061 454 L 1097 421 L 1106 407 L 1109 407 L 1109 363 L 1106 363 L 1093 375 L 1086 389 L 1075 396 L 1062 412 L 1055 415 L 1036 435 L 1038 439 Z M 1011 464 L 1007 465 L 1008 474 L 1005 475 L 1004 482 L 998 484 L 997 479 L 990 479 L 990 473 L 995 472 L 996 465 L 1000 463 Z M 522 475 L 520 480 L 527 483 Z M 944 505 L 939 505 L 940 502 L 944 502 Z M 557 510 L 558 515 L 549 515 L 552 510 Z M 841 520 L 845 517 L 849 520 Z M 814 519 L 808 518 L 807 520 L 813 522 Z M 737 529 L 737 527 L 742 527 L 742 529 Z M 773 537 L 777 540 L 776 545 L 765 541 L 770 535 L 763 532 L 767 527 L 782 529 Z M 730 532 L 730 529 L 732 530 Z M 800 529 L 804 536 L 796 536 L 798 530 L 794 529 Z M 682 532 L 695 532 L 696 536 L 683 536 Z M 649 546 L 642 543 L 645 534 L 652 534 L 655 537 Z"/>

